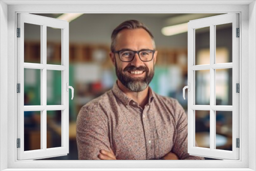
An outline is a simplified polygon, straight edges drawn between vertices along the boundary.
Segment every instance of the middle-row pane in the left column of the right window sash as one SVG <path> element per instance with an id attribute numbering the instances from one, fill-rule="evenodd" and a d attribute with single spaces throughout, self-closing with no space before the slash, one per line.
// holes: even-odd
<path id="1" fill-rule="evenodd" d="M 196 105 L 210 105 L 210 70 L 195 71 Z"/>

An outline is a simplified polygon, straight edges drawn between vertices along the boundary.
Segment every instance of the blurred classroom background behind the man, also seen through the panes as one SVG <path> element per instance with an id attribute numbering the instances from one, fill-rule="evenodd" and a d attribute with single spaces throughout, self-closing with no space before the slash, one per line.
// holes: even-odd
<path id="1" fill-rule="evenodd" d="M 37 14 L 57 18 L 62 14 Z M 158 94 L 178 99 L 187 113 L 182 89 L 187 85 L 187 32 L 163 33 L 192 19 L 219 14 L 82 14 L 69 27 L 70 152 L 47 160 L 77 160 L 76 118 L 84 104 L 112 89 L 116 81 L 109 52 L 113 29 L 127 19 L 143 22 L 155 36 L 158 51 L 155 76 L 150 83 Z M 183 26 L 184 27 L 184 26 Z M 186 26 L 185 26 L 186 27 Z M 232 26 L 216 28 L 216 62 L 232 62 Z M 182 28 L 178 29 L 182 30 Z M 166 34 L 166 35 L 164 35 Z M 196 30 L 196 65 L 209 64 L 209 28 Z M 231 37 L 231 40 L 230 40 Z M 24 62 L 40 63 L 40 26 L 25 24 Z M 47 63 L 61 65 L 61 30 L 47 28 Z M 40 70 L 25 69 L 24 105 L 40 105 Z M 196 104 L 209 104 L 209 70 L 196 71 Z M 232 105 L 232 70 L 216 70 L 216 104 Z M 61 71 L 47 71 L 47 105 L 61 104 Z M 70 93 L 71 97 L 71 93 Z M 25 151 L 40 149 L 40 112 L 25 112 Z M 196 141 L 209 148 L 209 111 L 196 111 Z M 61 111 L 47 112 L 47 148 L 61 146 Z M 217 149 L 232 150 L 232 113 L 216 113 Z M 210 159 L 210 158 L 207 158 Z"/>

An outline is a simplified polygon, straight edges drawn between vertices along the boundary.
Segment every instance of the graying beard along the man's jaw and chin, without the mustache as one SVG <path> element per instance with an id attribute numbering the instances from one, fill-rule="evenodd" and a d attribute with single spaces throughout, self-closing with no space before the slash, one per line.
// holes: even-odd
<path id="1" fill-rule="evenodd" d="M 116 67 L 116 75 L 117 78 L 119 79 L 119 81 L 129 90 L 133 91 L 133 92 L 141 92 L 143 90 L 145 90 L 148 86 L 148 84 L 150 84 L 151 80 L 154 77 L 154 71 L 155 71 L 155 66 L 153 71 L 145 71 L 146 72 L 146 76 L 143 78 L 132 78 L 129 77 L 125 74 L 122 73 L 121 69 L 117 68 L 117 65 L 115 63 L 115 67 Z"/>

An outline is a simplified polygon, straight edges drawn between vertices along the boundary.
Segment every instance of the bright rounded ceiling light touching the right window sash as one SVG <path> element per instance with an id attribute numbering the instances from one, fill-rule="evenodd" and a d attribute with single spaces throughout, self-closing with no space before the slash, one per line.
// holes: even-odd
<path id="1" fill-rule="evenodd" d="M 185 33 L 187 32 L 187 23 L 164 27 L 162 28 L 161 32 L 165 36 L 173 36 L 176 34 Z"/>

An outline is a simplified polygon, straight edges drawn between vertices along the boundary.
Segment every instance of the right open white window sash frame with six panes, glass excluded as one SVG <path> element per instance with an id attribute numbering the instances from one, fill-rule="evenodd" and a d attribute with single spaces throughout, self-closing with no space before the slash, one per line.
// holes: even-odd
<path id="1" fill-rule="evenodd" d="M 216 63 L 216 26 L 231 23 L 232 24 L 232 62 Z M 196 29 L 209 27 L 210 56 L 208 65 L 196 65 Z M 188 23 L 188 78 L 190 85 L 188 91 L 188 153 L 193 156 L 203 156 L 216 159 L 239 159 L 239 148 L 236 147 L 236 138 L 239 138 L 239 95 L 236 93 L 236 83 L 239 83 L 239 39 L 236 37 L 236 28 L 239 28 L 239 14 L 229 13 L 201 19 L 190 20 Z M 216 69 L 232 70 L 232 105 L 216 105 Z M 209 105 L 197 105 L 196 101 L 196 71 L 209 71 L 210 96 Z M 195 146 L 195 111 L 209 111 L 209 148 Z M 216 146 L 216 111 L 232 112 L 232 151 L 215 149 Z"/>

